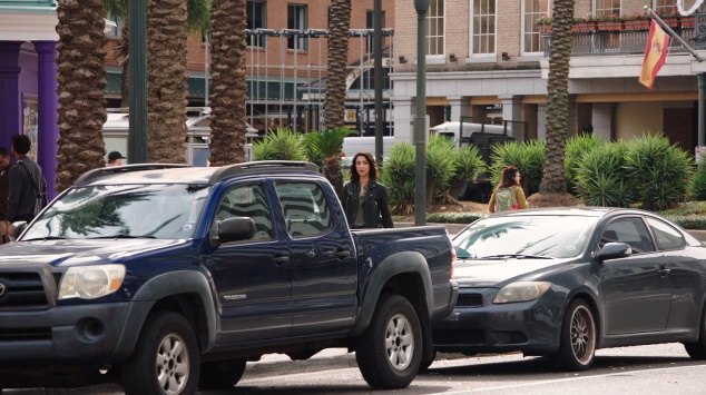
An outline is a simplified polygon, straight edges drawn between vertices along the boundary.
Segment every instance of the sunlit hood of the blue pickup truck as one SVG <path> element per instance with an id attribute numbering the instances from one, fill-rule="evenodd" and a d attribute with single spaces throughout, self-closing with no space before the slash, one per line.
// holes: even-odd
<path id="1" fill-rule="evenodd" d="M 184 239 L 101 239 L 10 243 L 0 247 L 0 268 L 18 265 L 105 264 L 185 244 Z"/>

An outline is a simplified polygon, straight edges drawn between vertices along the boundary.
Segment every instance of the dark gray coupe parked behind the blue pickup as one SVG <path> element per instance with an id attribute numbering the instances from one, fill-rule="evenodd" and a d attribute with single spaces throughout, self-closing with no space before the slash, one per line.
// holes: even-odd
<path id="1" fill-rule="evenodd" d="M 706 358 L 706 248 L 647 211 L 492 215 L 453 238 L 460 292 L 438 352 L 546 355 L 587 369 L 598 348 L 682 342 Z"/>

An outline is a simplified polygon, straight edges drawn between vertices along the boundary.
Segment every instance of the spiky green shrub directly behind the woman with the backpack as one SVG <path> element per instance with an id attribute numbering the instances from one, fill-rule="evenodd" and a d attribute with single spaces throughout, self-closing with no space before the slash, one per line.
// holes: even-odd
<path id="1" fill-rule="evenodd" d="M 539 190 L 545 166 L 545 141 L 509 141 L 492 147 L 492 165 L 490 171 L 493 184 L 497 185 L 502 177 L 502 168 L 508 165 L 517 166 L 522 175 L 522 189 L 527 196 Z"/>

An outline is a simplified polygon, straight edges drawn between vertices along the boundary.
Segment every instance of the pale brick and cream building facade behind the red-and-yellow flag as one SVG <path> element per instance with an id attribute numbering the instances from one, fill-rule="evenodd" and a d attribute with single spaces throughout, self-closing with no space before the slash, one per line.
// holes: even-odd
<path id="1" fill-rule="evenodd" d="M 689 8 L 693 1 L 686 1 Z M 638 83 L 647 41 L 644 6 L 675 20 L 688 42 L 694 17 L 676 18 L 675 0 L 577 0 L 569 73 L 569 136 L 592 131 L 605 139 L 664 132 L 694 152 L 697 145 L 697 75 L 706 65 L 673 40 L 654 89 Z M 395 137 L 411 141 L 415 108 L 416 19 L 412 2 L 395 0 Z M 426 113 L 444 120 L 512 121 L 519 140 L 546 135 L 550 33 L 537 21 L 551 16 L 549 0 L 431 0 L 428 14 Z M 630 21 L 645 21 L 634 27 Z M 602 21 L 612 21 L 612 27 Z M 698 51 L 706 57 L 706 51 Z M 409 60 L 400 63 L 400 60 Z"/>

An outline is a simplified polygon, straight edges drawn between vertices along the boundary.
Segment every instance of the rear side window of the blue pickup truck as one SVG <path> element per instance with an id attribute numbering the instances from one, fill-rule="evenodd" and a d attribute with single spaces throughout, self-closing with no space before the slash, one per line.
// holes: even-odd
<path id="1" fill-rule="evenodd" d="M 333 230 L 331 210 L 316 182 L 276 182 L 284 221 L 292 238 L 311 237 Z"/>

